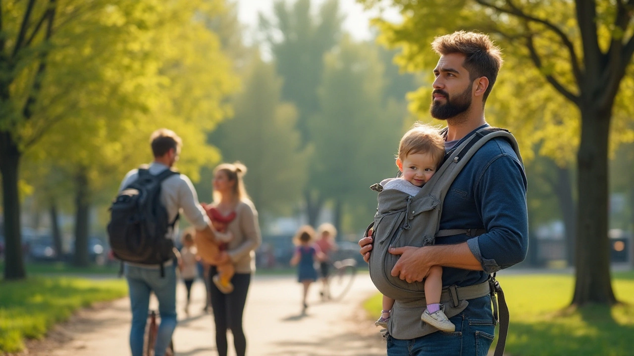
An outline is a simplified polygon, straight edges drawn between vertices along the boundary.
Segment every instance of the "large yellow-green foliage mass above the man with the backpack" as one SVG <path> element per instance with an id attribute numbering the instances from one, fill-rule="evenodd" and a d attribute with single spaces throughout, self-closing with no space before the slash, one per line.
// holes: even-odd
<path id="1" fill-rule="evenodd" d="M 198 20 L 224 11 L 219 0 L 123 2 L 68 23 L 42 92 L 51 105 L 37 111 L 58 122 L 27 160 L 67 177 L 86 172 L 86 200 L 103 203 L 128 170 L 152 160 L 150 133 L 168 127 L 184 142 L 178 169 L 196 181 L 201 166 L 219 162 L 207 132 L 230 114 L 226 96 L 238 84 L 219 38 Z M 74 94 L 57 93 L 60 86 Z M 41 193 L 68 192 L 26 174 Z"/>

